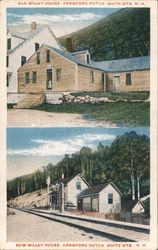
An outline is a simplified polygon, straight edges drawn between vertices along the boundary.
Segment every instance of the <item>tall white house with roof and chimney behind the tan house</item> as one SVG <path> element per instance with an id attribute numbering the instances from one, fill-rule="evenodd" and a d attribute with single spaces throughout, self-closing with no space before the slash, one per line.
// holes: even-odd
<path id="1" fill-rule="evenodd" d="M 36 22 L 33 22 L 30 31 L 26 33 L 19 33 L 13 31 L 13 29 L 8 29 L 6 58 L 7 93 L 18 93 L 17 70 L 44 43 L 63 50 L 63 47 L 48 25 L 37 27 Z"/>

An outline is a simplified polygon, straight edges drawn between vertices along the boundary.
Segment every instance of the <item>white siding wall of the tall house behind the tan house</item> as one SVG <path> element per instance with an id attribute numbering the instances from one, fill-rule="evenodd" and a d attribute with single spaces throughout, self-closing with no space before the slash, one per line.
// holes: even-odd
<path id="1" fill-rule="evenodd" d="M 35 43 L 39 43 L 39 46 L 47 44 L 60 49 L 59 44 L 53 37 L 50 30 L 46 27 L 35 36 L 25 41 L 22 45 L 15 49 L 13 53 L 9 54 L 9 67 L 7 68 L 7 72 L 12 72 L 12 76 L 9 87 L 7 87 L 8 93 L 18 92 L 17 70 L 21 67 L 21 56 L 26 56 L 26 60 L 29 59 L 35 52 Z"/>

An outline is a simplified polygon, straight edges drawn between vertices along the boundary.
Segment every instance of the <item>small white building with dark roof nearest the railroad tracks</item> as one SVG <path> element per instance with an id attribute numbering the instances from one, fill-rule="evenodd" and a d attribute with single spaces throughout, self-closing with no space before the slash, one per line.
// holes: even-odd
<path id="1" fill-rule="evenodd" d="M 122 193 L 113 182 L 86 188 L 78 195 L 78 209 L 118 214 L 121 211 Z"/>

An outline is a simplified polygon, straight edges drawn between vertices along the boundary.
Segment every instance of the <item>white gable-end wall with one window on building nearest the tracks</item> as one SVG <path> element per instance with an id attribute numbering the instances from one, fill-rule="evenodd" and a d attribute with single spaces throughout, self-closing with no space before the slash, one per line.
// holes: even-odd
<path id="1" fill-rule="evenodd" d="M 108 204 L 109 193 L 113 194 L 113 204 Z M 109 184 L 99 193 L 99 212 L 109 214 L 109 213 L 120 213 L 120 211 L 121 211 L 121 196 L 112 187 L 112 185 Z"/>

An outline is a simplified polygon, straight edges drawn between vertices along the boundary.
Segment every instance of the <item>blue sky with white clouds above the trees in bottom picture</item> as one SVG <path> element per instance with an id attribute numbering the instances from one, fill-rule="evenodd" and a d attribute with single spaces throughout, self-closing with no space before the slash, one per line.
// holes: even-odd
<path id="1" fill-rule="evenodd" d="M 118 135 L 132 130 L 149 136 L 148 128 L 8 128 L 7 179 L 56 164 L 83 146 L 110 146 Z"/>

